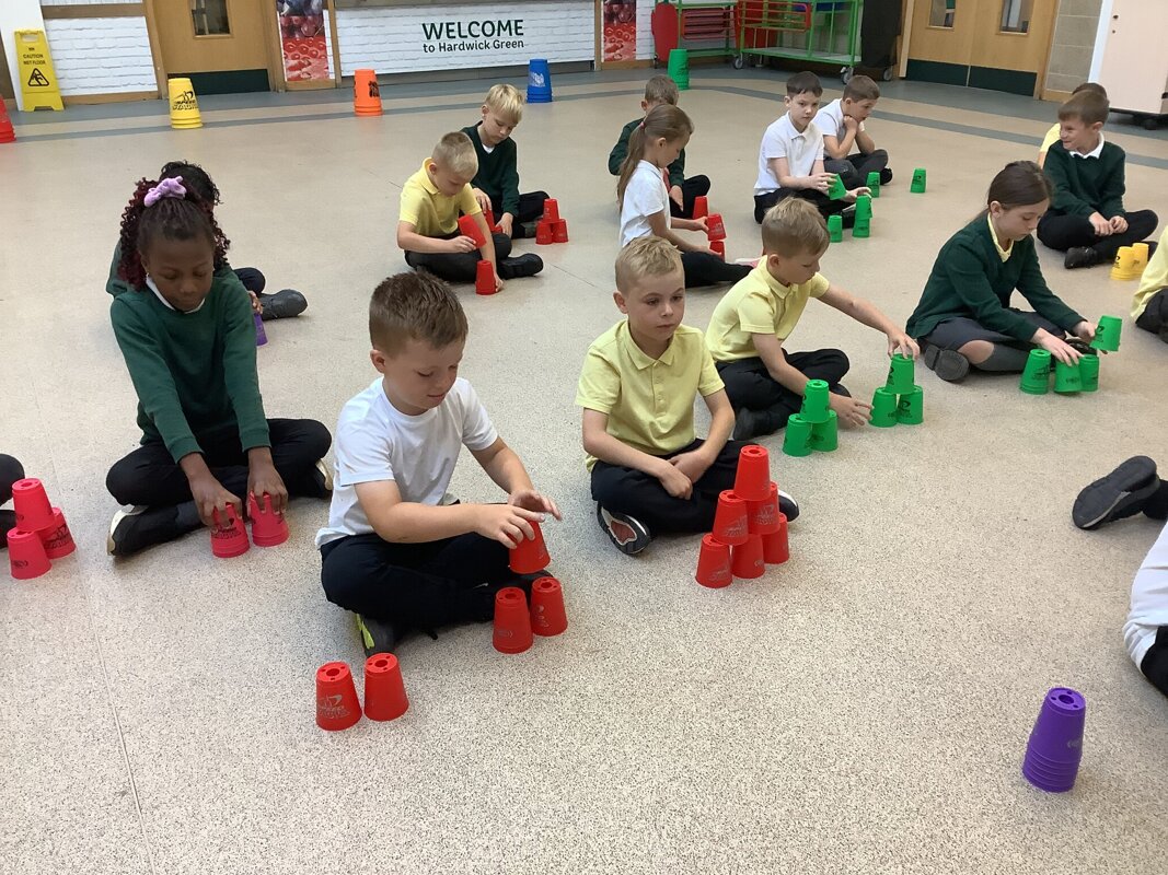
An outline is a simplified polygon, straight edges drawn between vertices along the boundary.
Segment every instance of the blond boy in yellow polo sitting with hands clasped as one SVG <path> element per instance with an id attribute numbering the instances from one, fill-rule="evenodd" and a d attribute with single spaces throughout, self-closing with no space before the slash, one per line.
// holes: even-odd
<path id="1" fill-rule="evenodd" d="M 812 208 L 814 209 L 814 208 Z M 640 237 L 617 257 L 617 309 L 628 316 L 593 341 L 576 404 L 597 519 L 617 550 L 633 555 L 661 532 L 708 532 L 718 492 L 732 489 L 743 444 L 728 441 L 734 411 L 702 332 L 681 324 L 681 256 Z M 694 432 L 694 397 L 710 411 L 710 435 Z M 799 505 L 786 494 L 787 519 Z"/>

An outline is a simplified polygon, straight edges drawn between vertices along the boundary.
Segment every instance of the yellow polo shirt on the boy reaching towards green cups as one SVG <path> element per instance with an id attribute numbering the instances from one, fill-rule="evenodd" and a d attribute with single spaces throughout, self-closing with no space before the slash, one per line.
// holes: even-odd
<path id="1" fill-rule="evenodd" d="M 718 362 L 758 356 L 752 334 L 773 334 L 783 343 L 795 329 L 811 298 L 822 298 L 830 284 L 816 273 L 788 286 L 766 270 L 766 260 L 738 280 L 718 301 L 705 329 L 705 345 Z"/>

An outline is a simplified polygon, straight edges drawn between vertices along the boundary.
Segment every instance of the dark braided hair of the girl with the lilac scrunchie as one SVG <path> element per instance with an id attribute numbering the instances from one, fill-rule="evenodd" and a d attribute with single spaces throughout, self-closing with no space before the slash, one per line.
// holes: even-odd
<path id="1" fill-rule="evenodd" d="M 133 197 L 121 212 L 121 260 L 118 276 L 133 288 L 146 282 L 141 252 L 147 251 L 159 237 L 167 240 L 192 240 L 203 237 L 215 247 L 215 270 L 227 264 L 227 250 L 231 242 L 223 236 L 211 204 L 201 198 L 193 188 L 183 197 L 162 197 L 152 206 L 146 205 L 146 192 L 158 184 L 152 180 L 139 180 Z"/>

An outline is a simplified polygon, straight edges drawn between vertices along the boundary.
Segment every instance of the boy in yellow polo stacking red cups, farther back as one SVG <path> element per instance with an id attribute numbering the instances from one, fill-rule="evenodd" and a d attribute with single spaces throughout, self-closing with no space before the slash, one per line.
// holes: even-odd
<path id="1" fill-rule="evenodd" d="M 543 259 L 535 254 L 508 258 L 510 237 L 491 232 L 471 190 L 471 180 L 478 170 L 479 159 L 470 136 L 461 131 L 443 136 L 422 162 L 422 169 L 402 189 L 397 245 L 405 252 L 410 267 L 429 271 L 449 282 L 474 282 L 479 260 L 485 258 L 494 265 L 499 290 L 503 280 L 537 274 L 543 270 Z M 479 233 L 486 239 L 481 249 L 473 237 L 459 231 L 460 212 L 474 217 Z"/>

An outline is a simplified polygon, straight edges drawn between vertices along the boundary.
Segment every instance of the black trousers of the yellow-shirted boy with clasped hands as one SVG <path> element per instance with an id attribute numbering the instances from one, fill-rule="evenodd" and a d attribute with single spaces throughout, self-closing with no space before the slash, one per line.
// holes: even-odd
<path id="1" fill-rule="evenodd" d="M 662 459 L 690 453 L 704 442 L 696 440 Z M 661 481 L 645 471 L 597 462 L 592 466 L 592 498 L 607 510 L 635 517 L 651 534 L 708 532 L 714 527 L 718 494 L 734 489 L 738 454 L 745 446 L 742 441 L 726 441 L 714 464 L 694 484 L 689 498 L 674 498 Z"/>

